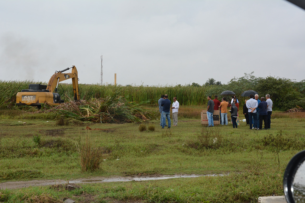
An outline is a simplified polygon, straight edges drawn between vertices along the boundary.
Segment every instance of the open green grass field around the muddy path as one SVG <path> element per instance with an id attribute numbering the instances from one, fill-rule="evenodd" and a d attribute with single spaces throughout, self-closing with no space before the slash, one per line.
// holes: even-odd
<path id="1" fill-rule="evenodd" d="M 230 124 L 204 128 L 200 110 L 199 106 L 181 106 L 178 127 L 171 129 L 161 129 L 159 117 L 147 121 L 148 126 L 155 126 L 154 131 L 139 131 L 136 123 L 97 124 L 68 119 L 59 125 L 48 115 L 15 110 L 9 114 L 10 110 L 2 110 L 1 182 L 139 174 L 229 175 L 88 184 L 74 192 L 49 187 L 0 190 L 0 201 L 22 202 L 23 197 L 48 198 L 49 202 L 64 197 L 83 201 L 84 196 L 75 196 L 79 193 L 97 202 L 257 202 L 259 196 L 283 195 L 285 166 L 305 148 L 305 114 L 275 111 L 271 130 L 254 131 L 242 121 L 237 129 Z M 100 169 L 91 172 L 82 172 L 77 163 L 76 142 L 86 126 L 99 128 L 90 131 L 90 137 L 102 150 L 102 159 L 106 159 Z"/>

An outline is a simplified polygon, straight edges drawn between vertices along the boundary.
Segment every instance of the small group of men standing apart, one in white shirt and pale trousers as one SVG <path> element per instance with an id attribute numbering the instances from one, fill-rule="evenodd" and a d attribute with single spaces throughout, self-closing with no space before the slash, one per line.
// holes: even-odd
<path id="1" fill-rule="evenodd" d="M 159 111 L 160 111 L 160 126 L 164 129 L 164 127 L 167 126 L 167 128 L 170 128 L 170 109 L 173 111 L 173 126 L 178 126 L 178 109 L 179 109 L 179 102 L 177 101 L 177 97 L 173 98 L 174 102 L 171 105 L 171 101 L 168 99 L 167 94 L 161 95 L 161 98 L 158 100 L 159 104 Z M 171 105 L 171 107 L 170 107 Z M 166 125 L 166 119 L 167 124 Z"/>

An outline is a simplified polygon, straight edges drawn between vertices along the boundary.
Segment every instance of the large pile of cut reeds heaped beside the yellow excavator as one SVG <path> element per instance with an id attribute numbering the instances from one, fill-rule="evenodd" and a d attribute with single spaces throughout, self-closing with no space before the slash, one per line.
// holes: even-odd
<path id="1" fill-rule="evenodd" d="M 128 101 L 124 93 L 118 90 L 106 98 L 91 98 L 83 102 L 70 101 L 57 106 L 46 105 L 38 112 L 54 113 L 58 117 L 73 117 L 98 123 L 150 120 L 154 112 L 140 106 L 141 104 Z"/>

